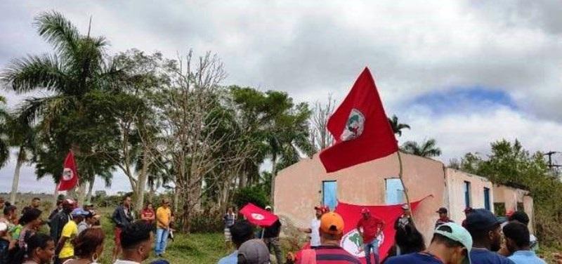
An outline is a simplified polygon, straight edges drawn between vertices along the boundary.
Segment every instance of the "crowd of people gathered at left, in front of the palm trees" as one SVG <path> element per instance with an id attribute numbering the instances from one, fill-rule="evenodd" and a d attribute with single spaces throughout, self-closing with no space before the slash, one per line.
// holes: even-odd
<path id="1" fill-rule="evenodd" d="M 103 253 L 105 233 L 100 215 L 93 204 L 78 206 L 72 199 L 60 199 L 47 219 L 41 218 L 41 199 L 33 198 L 29 206 L 18 211 L 0 197 L 0 264 L 89 264 L 98 263 Z M 115 247 L 112 263 L 135 264 L 146 260 L 152 250 L 162 259 L 166 241 L 173 230 L 169 200 L 156 210 L 147 204 L 136 220 L 131 197 L 112 213 L 115 223 Z M 44 233 L 48 226 L 48 234 Z"/>

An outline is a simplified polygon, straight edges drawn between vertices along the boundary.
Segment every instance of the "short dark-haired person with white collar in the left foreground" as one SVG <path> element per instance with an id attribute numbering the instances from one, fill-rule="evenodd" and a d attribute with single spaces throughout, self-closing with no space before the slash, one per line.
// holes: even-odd
<path id="1" fill-rule="evenodd" d="M 139 220 L 123 227 L 121 232 L 122 259 L 113 264 L 141 264 L 150 256 L 152 239 L 152 225 Z"/>

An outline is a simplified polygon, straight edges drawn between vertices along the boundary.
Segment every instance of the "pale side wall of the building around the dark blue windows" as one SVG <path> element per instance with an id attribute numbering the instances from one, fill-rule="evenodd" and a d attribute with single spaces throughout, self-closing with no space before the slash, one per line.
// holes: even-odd
<path id="1" fill-rule="evenodd" d="M 493 211 L 494 206 L 494 188 L 488 179 L 476 176 L 456 169 L 445 169 L 445 178 L 447 183 L 447 209 L 449 209 L 449 217 L 456 223 L 462 223 L 464 220 L 464 209 L 466 204 L 464 201 L 464 182 L 471 183 L 471 207 L 485 208 L 484 205 L 484 188 L 490 189 L 490 209 Z"/>

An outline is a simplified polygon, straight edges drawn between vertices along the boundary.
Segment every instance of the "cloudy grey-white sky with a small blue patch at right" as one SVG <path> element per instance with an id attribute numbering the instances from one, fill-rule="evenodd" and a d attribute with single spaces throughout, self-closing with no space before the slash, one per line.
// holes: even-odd
<path id="1" fill-rule="evenodd" d="M 445 162 L 485 154 L 501 138 L 562 151 L 558 0 L 1 1 L 0 67 L 51 51 L 32 27 L 51 10 L 82 32 L 91 16 L 92 34 L 110 40 L 110 53 L 212 51 L 226 65 L 225 84 L 287 91 L 297 101 L 329 93 L 340 101 L 368 66 L 387 114 L 412 126 L 400 141 L 436 138 Z M 23 96 L 0 93 L 11 107 Z M 14 163 L 0 169 L 0 192 Z M 112 190 L 128 188 L 116 175 Z M 53 187 L 27 167 L 20 189 Z"/>

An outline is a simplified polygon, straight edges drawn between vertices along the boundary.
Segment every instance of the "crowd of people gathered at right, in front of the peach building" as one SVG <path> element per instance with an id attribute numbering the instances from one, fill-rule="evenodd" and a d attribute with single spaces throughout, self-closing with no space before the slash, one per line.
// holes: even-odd
<path id="1" fill-rule="evenodd" d="M 271 207 L 266 209 L 271 211 Z M 529 217 L 524 211 L 510 212 L 507 218 L 497 217 L 486 209 L 467 208 L 462 224 L 455 223 L 448 216 L 448 210 L 441 207 L 436 211 L 438 220 L 429 246 L 412 219 L 407 205 L 394 221 L 396 230 L 394 244 L 386 258 L 379 258 L 381 233 L 384 220 L 377 218 L 370 209 L 361 210 L 358 223 L 352 223 L 361 237 L 362 252 L 367 264 L 542 264 L 537 256 L 537 239 L 530 234 Z M 237 220 L 233 209 L 224 216 L 225 238 L 231 241 L 235 250 L 221 258 L 218 264 L 270 263 L 273 247 L 276 263 L 361 263 L 360 259 L 341 247 L 344 236 L 344 219 L 338 213 L 330 212 L 326 206 L 315 206 L 315 217 L 310 227 L 298 228 L 309 235 L 309 246 L 296 253 L 289 252 L 281 259 L 279 245 L 279 220 L 256 232 L 256 227 L 247 220 Z M 266 234 L 268 234 L 266 236 Z"/>

